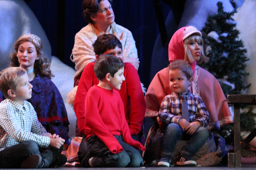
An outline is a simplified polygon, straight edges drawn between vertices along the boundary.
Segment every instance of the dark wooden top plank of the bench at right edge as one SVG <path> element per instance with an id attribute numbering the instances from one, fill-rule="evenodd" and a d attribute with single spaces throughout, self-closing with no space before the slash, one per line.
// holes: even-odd
<path id="1" fill-rule="evenodd" d="M 227 99 L 229 104 L 256 104 L 255 94 L 229 94 Z"/>

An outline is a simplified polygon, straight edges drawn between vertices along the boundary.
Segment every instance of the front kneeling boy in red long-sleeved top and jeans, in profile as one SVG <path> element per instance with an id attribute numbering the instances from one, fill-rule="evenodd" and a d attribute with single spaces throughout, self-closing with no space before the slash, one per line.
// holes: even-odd
<path id="1" fill-rule="evenodd" d="M 84 167 L 139 167 L 143 145 L 131 137 L 119 92 L 124 64 L 111 55 L 100 56 L 94 65 L 99 84 L 92 86 L 85 99 L 85 135 L 89 152 Z M 116 90 L 115 90 L 116 89 Z M 134 148 L 135 147 L 135 148 Z"/>

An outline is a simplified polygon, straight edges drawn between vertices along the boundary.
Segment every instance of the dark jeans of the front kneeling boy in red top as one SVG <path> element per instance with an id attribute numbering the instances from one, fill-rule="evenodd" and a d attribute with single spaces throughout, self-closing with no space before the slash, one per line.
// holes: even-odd
<path id="1" fill-rule="evenodd" d="M 143 165 L 143 159 L 138 150 L 125 143 L 121 135 L 114 136 L 123 147 L 123 152 L 113 154 L 96 135 L 88 139 L 88 150 L 94 155 L 92 165 L 94 167 L 139 167 Z"/>

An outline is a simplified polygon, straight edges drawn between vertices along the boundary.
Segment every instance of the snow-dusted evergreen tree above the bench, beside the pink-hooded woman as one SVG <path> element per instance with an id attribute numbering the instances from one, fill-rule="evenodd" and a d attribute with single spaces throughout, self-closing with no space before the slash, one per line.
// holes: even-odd
<path id="1" fill-rule="evenodd" d="M 210 50 L 205 53 L 210 59 L 208 63 L 202 64 L 202 67 L 217 79 L 226 79 L 235 85 L 235 89 L 231 90 L 230 86 L 220 82 L 225 95 L 241 94 L 250 86 L 244 82 L 245 76 L 249 75 L 245 71 L 245 62 L 249 59 L 232 18 L 237 11 L 234 9 L 232 12 L 224 12 L 222 2 L 218 2 L 217 6 L 218 13 L 208 16 L 205 27 L 202 29 L 205 45 L 210 46 Z M 218 39 L 221 42 L 208 36 L 212 31 L 219 35 Z"/>

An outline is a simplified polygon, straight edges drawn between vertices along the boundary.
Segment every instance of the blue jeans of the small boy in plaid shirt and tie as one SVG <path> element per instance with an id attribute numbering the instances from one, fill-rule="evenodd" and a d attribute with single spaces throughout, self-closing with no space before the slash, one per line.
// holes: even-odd
<path id="1" fill-rule="evenodd" d="M 204 127 L 199 127 L 193 135 L 188 135 L 176 123 L 170 123 L 164 129 L 163 156 L 173 156 L 173 150 L 178 140 L 189 140 L 185 145 L 182 154 L 187 154 L 192 157 L 199 148 L 205 143 L 209 137 L 209 131 Z"/>

